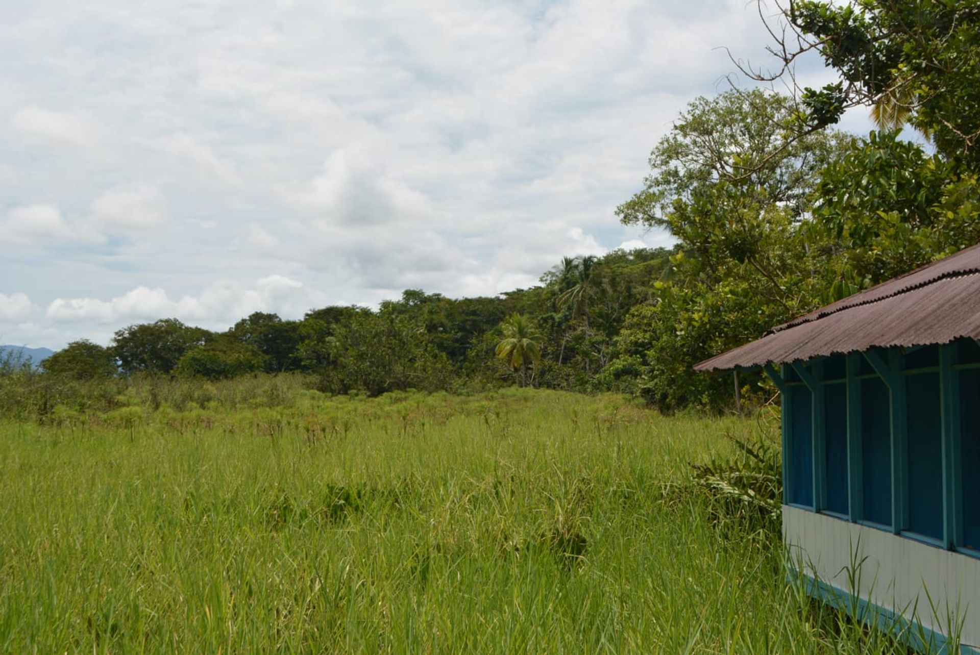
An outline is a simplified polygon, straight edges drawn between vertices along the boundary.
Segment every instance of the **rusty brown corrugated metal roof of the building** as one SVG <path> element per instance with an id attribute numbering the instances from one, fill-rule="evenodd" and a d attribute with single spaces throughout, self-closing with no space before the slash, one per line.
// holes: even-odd
<path id="1" fill-rule="evenodd" d="M 713 371 L 980 339 L 980 244 L 772 328 L 695 366 Z"/>

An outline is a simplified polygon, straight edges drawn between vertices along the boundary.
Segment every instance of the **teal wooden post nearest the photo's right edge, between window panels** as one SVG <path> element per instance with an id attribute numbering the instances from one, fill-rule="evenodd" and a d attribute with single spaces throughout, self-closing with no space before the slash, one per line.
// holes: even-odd
<path id="1" fill-rule="evenodd" d="M 947 548 L 963 542 L 960 484 L 959 376 L 953 369 L 956 342 L 939 347 L 939 389 L 943 416 L 943 538 Z"/>

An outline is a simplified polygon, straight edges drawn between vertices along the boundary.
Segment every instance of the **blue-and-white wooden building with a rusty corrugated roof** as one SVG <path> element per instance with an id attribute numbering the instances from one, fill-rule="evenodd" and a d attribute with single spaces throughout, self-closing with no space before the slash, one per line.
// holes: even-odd
<path id="1" fill-rule="evenodd" d="M 974 246 L 697 366 L 782 392 L 791 573 L 920 650 L 980 654 L 978 340 Z"/>

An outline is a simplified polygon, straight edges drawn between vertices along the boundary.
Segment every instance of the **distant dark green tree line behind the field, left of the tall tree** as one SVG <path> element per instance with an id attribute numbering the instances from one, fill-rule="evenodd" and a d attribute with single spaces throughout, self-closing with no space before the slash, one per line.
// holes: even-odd
<path id="1" fill-rule="evenodd" d="M 376 310 L 328 306 L 300 320 L 255 312 L 220 333 L 165 318 L 119 330 L 108 347 L 73 342 L 42 366 L 75 379 L 299 371 L 316 375 L 321 391 L 370 395 L 514 382 L 596 389 L 622 322 L 653 299 L 669 255 L 640 249 L 566 258 L 540 286 L 496 298 L 410 289 Z"/>

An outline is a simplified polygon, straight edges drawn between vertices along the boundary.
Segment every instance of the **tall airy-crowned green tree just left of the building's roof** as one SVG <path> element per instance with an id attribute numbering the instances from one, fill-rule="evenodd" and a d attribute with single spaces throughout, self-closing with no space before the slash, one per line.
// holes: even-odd
<path id="1" fill-rule="evenodd" d="M 854 139 L 823 130 L 785 147 L 795 112 L 761 90 L 700 98 L 654 148 L 645 188 L 617 213 L 678 243 L 649 306 L 626 318 L 604 379 L 663 410 L 716 407 L 722 383 L 691 366 L 819 303 L 831 275 L 811 255 L 813 191 Z"/>

